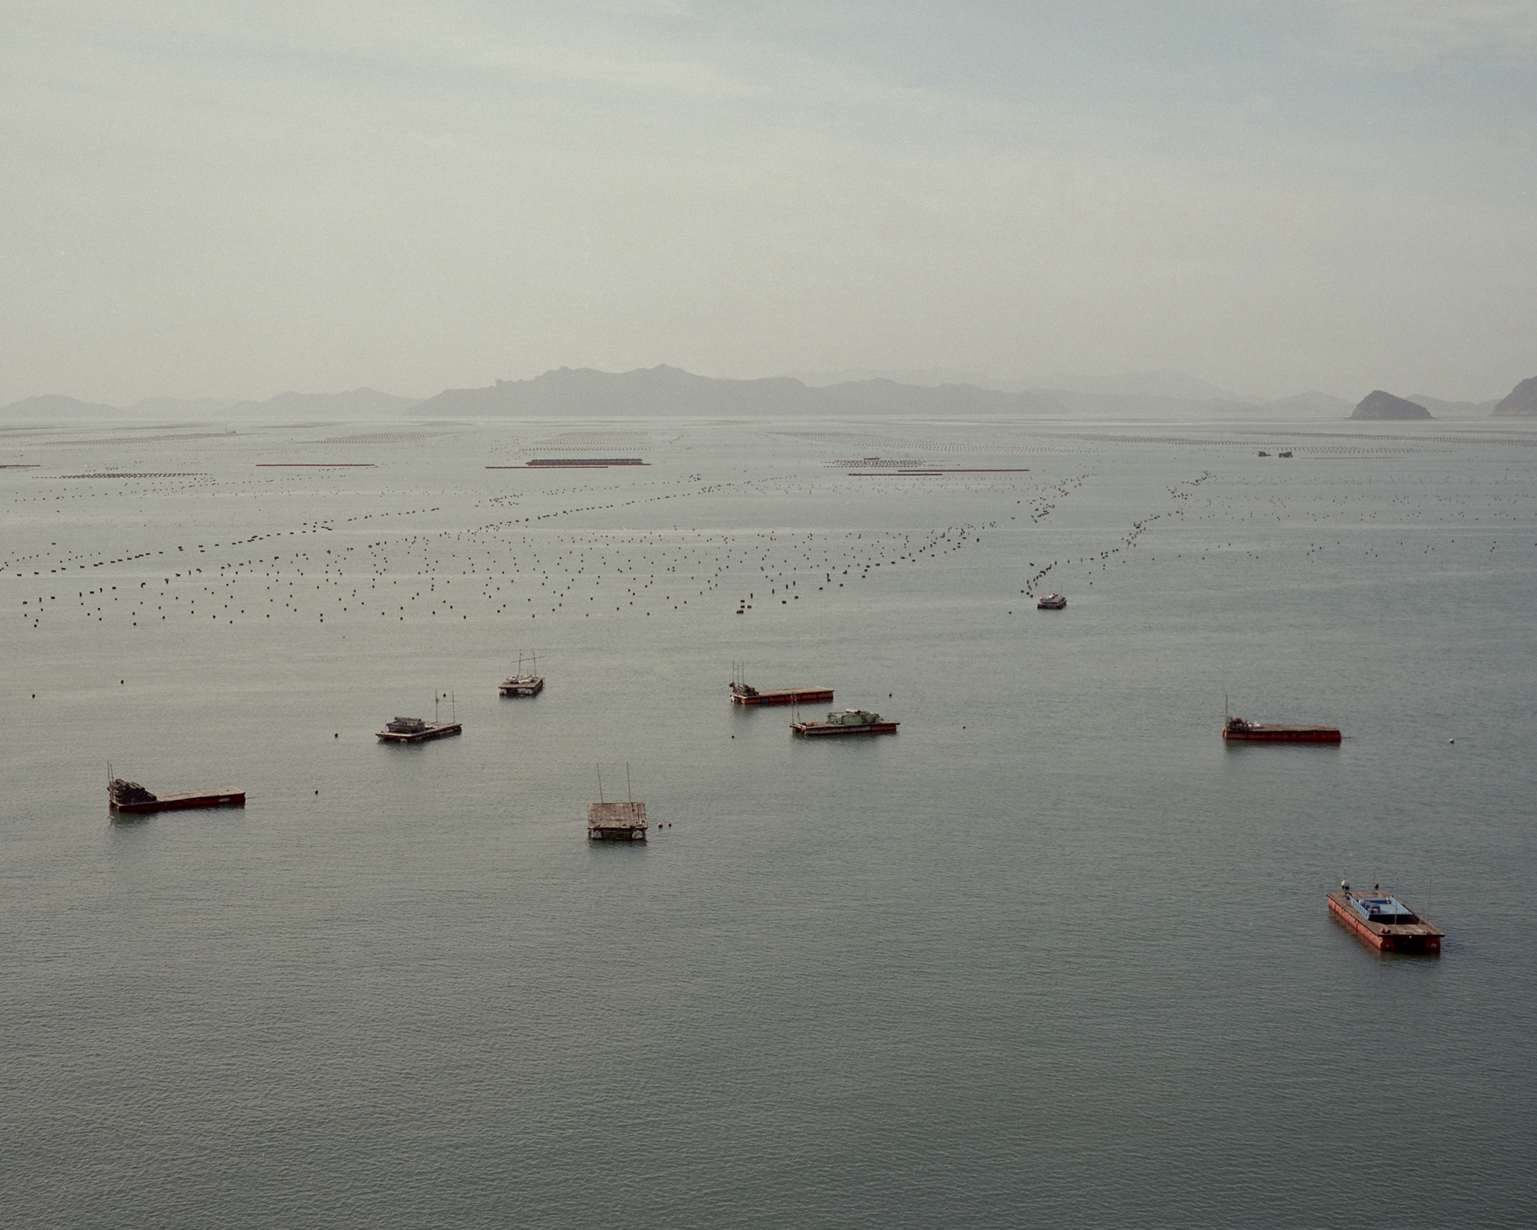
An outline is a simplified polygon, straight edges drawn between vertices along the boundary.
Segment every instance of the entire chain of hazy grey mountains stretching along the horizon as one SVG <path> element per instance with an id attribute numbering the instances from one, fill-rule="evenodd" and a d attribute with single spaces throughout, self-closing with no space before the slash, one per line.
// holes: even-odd
<path id="1" fill-rule="evenodd" d="M 28 397 L 0 407 L 8 420 L 72 418 L 389 418 L 423 417 L 778 417 L 778 415 L 921 415 L 930 418 L 999 414 L 1094 415 L 1296 415 L 1314 418 L 1362 417 L 1330 394 L 1306 392 L 1277 401 L 1242 397 L 1185 372 L 1130 372 L 1090 378 L 1067 372 L 1041 381 L 998 381 L 965 372 L 842 372 L 718 380 L 679 367 L 641 367 L 599 372 L 559 367 L 532 380 L 498 380 L 483 389 L 444 389 L 418 400 L 352 389 L 343 394 L 280 394 L 266 401 L 154 397 L 126 411 L 60 394 Z M 853 377 L 853 378 L 836 378 Z M 951 378 L 954 377 L 954 378 Z M 964 377 L 964 378 L 962 378 Z M 1391 394 L 1382 394 L 1391 397 Z M 1368 398 L 1369 400 L 1369 398 Z M 1503 401 L 1443 401 L 1414 395 L 1393 398 L 1437 417 L 1479 414 L 1537 415 L 1537 377 L 1522 381 Z M 1419 417 L 1419 415 L 1417 415 Z"/>

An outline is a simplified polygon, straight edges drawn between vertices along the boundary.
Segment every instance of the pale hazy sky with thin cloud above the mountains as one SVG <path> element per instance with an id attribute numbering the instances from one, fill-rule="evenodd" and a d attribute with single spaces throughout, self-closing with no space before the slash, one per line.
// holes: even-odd
<path id="1" fill-rule="evenodd" d="M 0 17 L 0 403 L 1537 374 L 1537 0 Z"/>

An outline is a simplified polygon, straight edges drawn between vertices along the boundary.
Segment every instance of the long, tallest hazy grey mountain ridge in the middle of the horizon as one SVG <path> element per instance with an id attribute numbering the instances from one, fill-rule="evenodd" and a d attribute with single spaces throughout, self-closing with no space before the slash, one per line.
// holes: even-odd
<path id="1" fill-rule="evenodd" d="M 970 384 L 922 387 L 861 380 L 812 389 L 793 377 L 716 380 L 679 367 L 599 372 L 561 367 L 533 380 L 498 380 L 486 389 L 447 389 L 412 407 L 421 415 L 527 415 L 583 418 L 627 415 L 759 417 L 787 414 L 951 415 L 1051 412 L 1041 394 L 1004 394 Z"/>

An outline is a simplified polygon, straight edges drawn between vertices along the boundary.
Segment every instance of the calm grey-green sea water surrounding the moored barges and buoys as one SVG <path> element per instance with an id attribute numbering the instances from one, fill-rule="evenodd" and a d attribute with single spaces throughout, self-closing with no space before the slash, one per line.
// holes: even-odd
<path id="1" fill-rule="evenodd" d="M 1532 1224 L 1489 427 L 5 432 L 3 1221 Z M 487 469 L 578 455 L 650 464 Z M 733 660 L 901 733 L 795 740 Z M 373 738 L 441 693 L 463 738 Z M 1225 693 L 1348 738 L 1227 747 Z M 249 803 L 114 824 L 108 761 Z M 644 847 L 587 844 L 599 767 Z"/>

